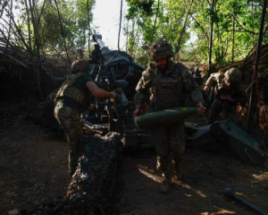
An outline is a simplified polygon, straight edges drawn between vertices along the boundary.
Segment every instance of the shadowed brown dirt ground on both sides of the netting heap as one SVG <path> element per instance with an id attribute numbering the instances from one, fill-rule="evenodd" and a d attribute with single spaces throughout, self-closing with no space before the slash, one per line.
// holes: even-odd
<path id="1" fill-rule="evenodd" d="M 25 120 L 25 110 L 0 116 L 0 149 L 0 214 L 65 195 L 67 141 Z M 155 150 L 124 152 L 122 162 L 120 214 L 255 214 L 227 199 L 227 187 L 268 212 L 267 169 L 241 163 L 228 149 L 187 149 L 186 178 L 168 194 L 159 193 Z"/>

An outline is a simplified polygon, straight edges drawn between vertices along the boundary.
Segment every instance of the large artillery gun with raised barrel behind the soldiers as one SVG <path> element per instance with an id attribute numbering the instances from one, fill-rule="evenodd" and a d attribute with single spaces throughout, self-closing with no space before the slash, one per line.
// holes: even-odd
<path id="1" fill-rule="evenodd" d="M 127 53 L 105 47 L 102 35 L 94 34 L 92 38 L 96 44 L 90 53 L 89 73 L 101 89 L 117 93 L 119 99 L 112 102 L 110 99 L 92 98 L 84 120 L 85 130 L 121 133 L 125 148 L 134 149 L 138 146 L 138 130 L 132 118 L 133 99 L 145 69 Z"/>

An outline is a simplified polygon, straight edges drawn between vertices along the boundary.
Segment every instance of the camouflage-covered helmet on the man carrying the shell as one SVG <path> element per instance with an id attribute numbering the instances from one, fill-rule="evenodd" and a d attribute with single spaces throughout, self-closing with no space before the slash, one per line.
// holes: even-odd
<path id="1" fill-rule="evenodd" d="M 159 39 L 148 46 L 148 56 L 151 61 L 173 57 L 172 45 L 164 39 Z"/>

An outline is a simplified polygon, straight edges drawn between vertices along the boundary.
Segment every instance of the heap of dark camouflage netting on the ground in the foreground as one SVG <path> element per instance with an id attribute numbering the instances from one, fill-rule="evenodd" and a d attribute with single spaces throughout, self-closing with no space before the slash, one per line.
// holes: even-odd
<path id="1" fill-rule="evenodd" d="M 79 167 L 72 176 L 67 199 L 85 202 L 89 214 L 92 209 L 102 210 L 107 214 L 113 209 L 113 188 L 121 159 L 119 133 L 107 133 L 104 141 L 85 136 L 83 142 L 88 143 L 85 153 L 80 157 Z"/>

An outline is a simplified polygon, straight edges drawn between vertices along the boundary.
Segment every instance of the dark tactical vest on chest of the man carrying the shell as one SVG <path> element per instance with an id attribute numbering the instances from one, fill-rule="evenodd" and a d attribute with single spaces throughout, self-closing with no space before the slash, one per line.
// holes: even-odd
<path id="1" fill-rule="evenodd" d="M 151 103 L 154 111 L 182 107 L 185 95 L 179 73 L 156 74 L 151 88 Z"/>

